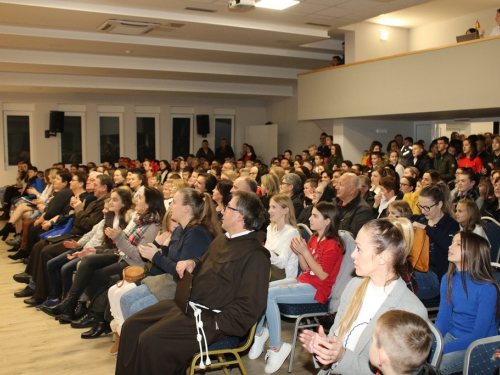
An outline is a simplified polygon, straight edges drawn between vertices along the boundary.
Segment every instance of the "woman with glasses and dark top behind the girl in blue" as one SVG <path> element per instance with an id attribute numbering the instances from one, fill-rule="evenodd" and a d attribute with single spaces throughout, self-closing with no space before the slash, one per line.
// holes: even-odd
<path id="1" fill-rule="evenodd" d="M 415 228 L 429 236 L 429 271 L 415 271 L 417 296 L 421 299 L 439 295 L 439 283 L 448 270 L 448 248 L 460 227 L 452 217 L 450 189 L 439 183 L 422 188 L 418 197 L 421 215 L 410 218 Z"/>

